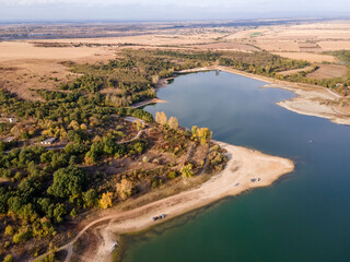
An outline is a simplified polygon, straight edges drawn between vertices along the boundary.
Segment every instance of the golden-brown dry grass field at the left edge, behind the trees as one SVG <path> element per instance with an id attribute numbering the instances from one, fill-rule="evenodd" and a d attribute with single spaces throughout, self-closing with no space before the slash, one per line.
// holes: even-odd
<path id="1" fill-rule="evenodd" d="M 75 78 L 61 63 L 94 63 L 115 57 L 116 50 L 104 47 L 35 47 L 24 41 L 0 43 L 0 87 L 24 99 L 37 99 L 30 90 L 55 90 L 60 82 Z"/>

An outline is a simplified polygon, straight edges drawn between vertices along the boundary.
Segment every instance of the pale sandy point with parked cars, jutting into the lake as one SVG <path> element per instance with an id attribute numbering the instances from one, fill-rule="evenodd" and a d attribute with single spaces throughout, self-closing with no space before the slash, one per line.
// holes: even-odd
<path id="1" fill-rule="evenodd" d="M 199 188 L 109 216 L 109 223 L 98 228 L 102 241 L 91 261 L 107 260 L 116 241 L 115 234 L 139 231 L 156 225 L 158 223 L 151 219 L 153 216 L 166 214 L 166 218 L 162 219 L 164 222 L 222 198 L 240 194 L 247 189 L 269 186 L 280 176 L 294 169 L 293 162 L 289 159 L 222 142 L 217 143 L 228 151 L 230 157 L 222 172 Z M 253 178 L 260 178 L 260 181 L 253 182 Z"/>

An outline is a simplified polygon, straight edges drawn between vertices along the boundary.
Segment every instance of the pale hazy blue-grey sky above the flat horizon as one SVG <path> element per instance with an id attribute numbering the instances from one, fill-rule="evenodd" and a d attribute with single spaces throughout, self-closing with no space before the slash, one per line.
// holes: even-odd
<path id="1" fill-rule="evenodd" d="M 178 21 L 350 16 L 350 0 L 0 0 L 0 21 Z"/>

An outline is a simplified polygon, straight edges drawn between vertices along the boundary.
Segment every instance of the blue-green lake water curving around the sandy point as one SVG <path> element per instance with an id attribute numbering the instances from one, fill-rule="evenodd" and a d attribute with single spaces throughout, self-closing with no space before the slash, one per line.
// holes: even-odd
<path id="1" fill-rule="evenodd" d="M 126 262 L 350 261 L 350 128 L 276 105 L 293 97 L 220 72 L 182 75 L 148 106 L 213 138 L 291 158 L 295 171 L 127 238 Z"/>

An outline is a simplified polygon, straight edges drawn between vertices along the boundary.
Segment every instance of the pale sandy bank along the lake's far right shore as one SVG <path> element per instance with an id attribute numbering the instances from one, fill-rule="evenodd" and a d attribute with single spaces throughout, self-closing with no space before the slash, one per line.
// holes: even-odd
<path id="1" fill-rule="evenodd" d="M 220 70 L 268 83 L 261 87 L 291 91 L 296 94 L 296 97 L 293 97 L 290 100 L 277 103 L 279 106 L 301 115 L 326 118 L 335 123 L 350 124 L 350 112 L 342 110 L 342 108 L 339 106 L 339 102 L 346 98 L 341 97 L 329 88 L 275 80 L 221 66 L 184 70 L 177 73 L 202 72 L 210 70 Z"/>

